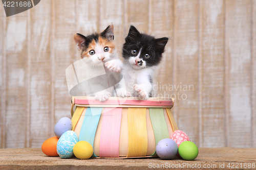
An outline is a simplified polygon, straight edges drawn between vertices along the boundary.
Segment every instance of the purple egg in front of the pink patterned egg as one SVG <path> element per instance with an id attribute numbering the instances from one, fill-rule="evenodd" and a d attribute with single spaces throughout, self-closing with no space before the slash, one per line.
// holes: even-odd
<path id="1" fill-rule="evenodd" d="M 156 153 L 162 159 L 173 159 L 178 152 L 178 145 L 173 139 L 162 139 L 157 143 Z"/>

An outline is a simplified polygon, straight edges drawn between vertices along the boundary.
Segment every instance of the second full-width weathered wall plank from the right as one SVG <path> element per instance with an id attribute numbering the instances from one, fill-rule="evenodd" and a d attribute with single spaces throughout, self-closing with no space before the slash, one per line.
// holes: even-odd
<path id="1" fill-rule="evenodd" d="M 224 110 L 224 4 L 200 2 L 201 144 L 225 146 Z M 216 97 L 219 96 L 219 97 Z M 214 121 L 213 121 L 214 120 Z M 212 131 L 211 133 L 208 133 Z M 211 144 L 209 143 L 211 141 Z M 212 145 L 215 143 L 214 145 Z"/>

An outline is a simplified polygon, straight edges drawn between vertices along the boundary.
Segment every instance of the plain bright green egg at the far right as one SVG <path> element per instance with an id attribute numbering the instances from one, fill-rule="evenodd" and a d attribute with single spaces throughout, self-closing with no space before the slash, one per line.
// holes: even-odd
<path id="1" fill-rule="evenodd" d="M 191 141 L 184 141 L 179 146 L 179 154 L 185 160 L 194 160 L 198 156 L 197 145 Z"/>

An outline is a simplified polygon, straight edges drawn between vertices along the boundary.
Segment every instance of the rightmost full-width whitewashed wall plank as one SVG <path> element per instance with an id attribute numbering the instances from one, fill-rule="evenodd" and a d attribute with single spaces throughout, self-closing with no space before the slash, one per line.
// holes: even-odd
<path id="1" fill-rule="evenodd" d="M 251 135 L 251 1 L 226 1 L 225 3 L 225 57 L 227 59 L 225 71 L 228 74 L 225 87 L 228 91 L 225 97 L 228 100 L 226 114 L 229 122 L 227 144 L 230 147 L 250 147 L 251 140 L 246 136 Z M 238 134 L 242 135 L 240 140 L 236 140 Z"/>

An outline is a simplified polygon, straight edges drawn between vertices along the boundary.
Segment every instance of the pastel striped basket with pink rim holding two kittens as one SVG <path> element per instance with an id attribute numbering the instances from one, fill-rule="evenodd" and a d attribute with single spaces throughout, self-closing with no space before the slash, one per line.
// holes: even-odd
<path id="1" fill-rule="evenodd" d="M 156 144 L 178 130 L 172 98 L 111 97 L 100 102 L 76 96 L 71 103 L 72 130 L 79 141 L 91 143 L 96 158 L 156 156 Z"/>

